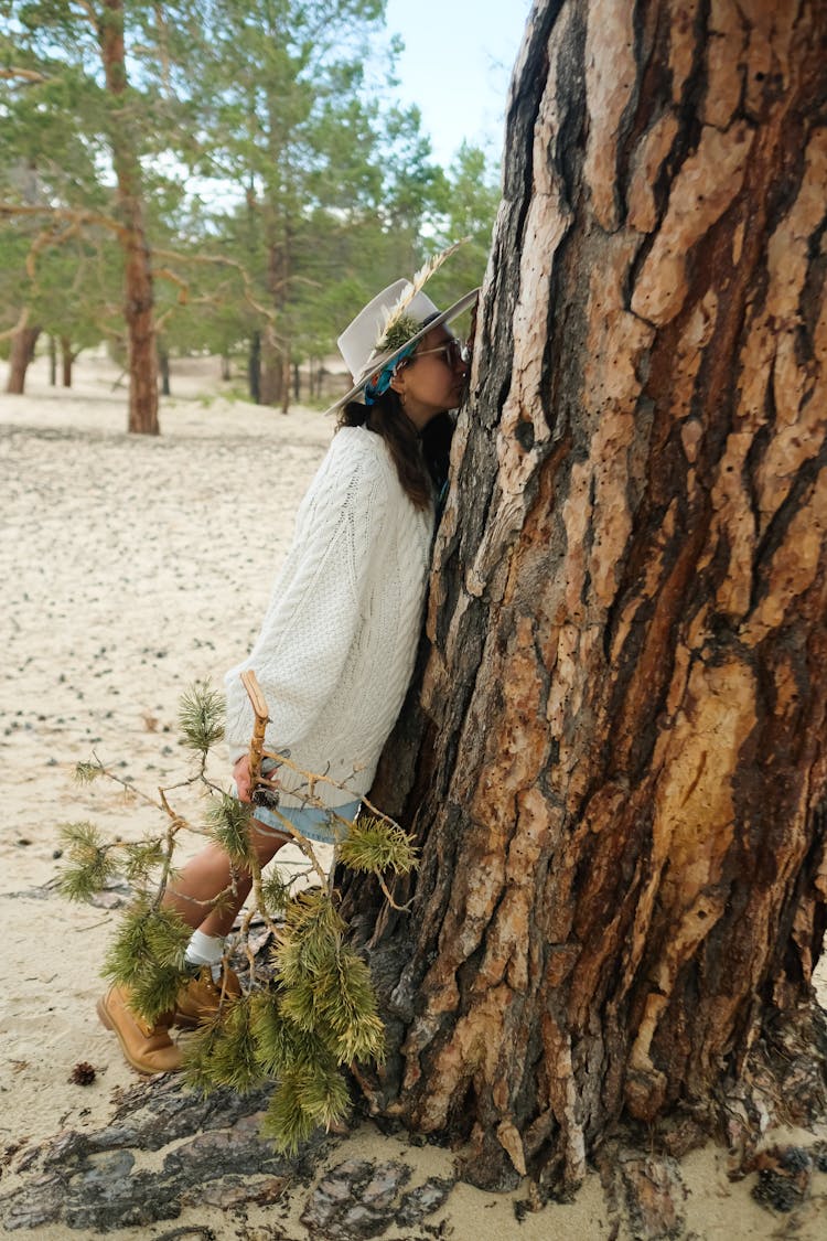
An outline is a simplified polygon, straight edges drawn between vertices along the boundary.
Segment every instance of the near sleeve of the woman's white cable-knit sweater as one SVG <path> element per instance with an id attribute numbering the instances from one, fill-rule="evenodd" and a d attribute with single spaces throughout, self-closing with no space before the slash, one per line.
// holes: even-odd
<path id="1" fill-rule="evenodd" d="M 311 485 L 262 632 L 224 680 L 231 762 L 253 732 L 245 669 L 255 671 L 270 711 L 268 748 L 288 750 L 311 731 L 357 635 L 387 508 L 387 477 L 371 457 L 336 459 Z"/>

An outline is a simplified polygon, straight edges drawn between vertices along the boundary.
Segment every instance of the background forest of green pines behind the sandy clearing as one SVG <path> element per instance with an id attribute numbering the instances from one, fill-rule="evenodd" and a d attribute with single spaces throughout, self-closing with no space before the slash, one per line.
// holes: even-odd
<path id="1" fill-rule="evenodd" d="M 105 340 L 166 392 L 170 359 L 213 354 L 239 395 L 325 405 L 324 360 L 377 289 L 459 238 L 433 297 L 480 283 L 498 170 L 467 143 L 436 163 L 384 22 L 382 0 L 4 0 L 9 390 L 43 343 L 71 386 Z"/>

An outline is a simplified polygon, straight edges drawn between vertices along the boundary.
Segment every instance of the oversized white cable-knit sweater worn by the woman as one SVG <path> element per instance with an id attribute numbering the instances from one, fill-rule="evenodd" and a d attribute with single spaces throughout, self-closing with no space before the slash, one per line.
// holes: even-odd
<path id="1" fill-rule="evenodd" d="M 345 782 L 316 787 L 330 807 L 368 791 L 413 671 L 433 522 L 403 491 L 382 437 L 342 427 L 299 506 L 255 645 L 224 679 L 232 762 L 253 731 L 239 679 L 252 668 L 268 750 Z M 301 778 L 281 767 L 279 782 L 283 804 L 301 804 Z"/>

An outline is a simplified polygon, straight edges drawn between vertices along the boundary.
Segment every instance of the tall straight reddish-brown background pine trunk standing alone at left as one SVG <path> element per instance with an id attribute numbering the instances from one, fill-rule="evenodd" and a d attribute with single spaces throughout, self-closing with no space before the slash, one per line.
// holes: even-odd
<path id="1" fill-rule="evenodd" d="M 109 125 L 112 160 L 118 179 L 118 212 L 124 235 L 124 318 L 129 346 L 129 423 L 128 429 L 156 436 L 157 359 L 155 355 L 155 316 L 153 269 L 144 226 L 140 191 L 140 161 L 133 137 L 131 104 L 126 98 L 124 60 L 123 0 L 103 0 L 98 41 L 113 99 Z M 118 103 L 118 107 L 114 107 Z"/>

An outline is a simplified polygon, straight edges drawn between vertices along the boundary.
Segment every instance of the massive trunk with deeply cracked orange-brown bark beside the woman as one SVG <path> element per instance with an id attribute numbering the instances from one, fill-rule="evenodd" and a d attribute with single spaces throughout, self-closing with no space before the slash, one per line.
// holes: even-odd
<path id="1" fill-rule="evenodd" d="M 827 9 L 539 0 L 436 545 L 345 880 L 377 1113 L 572 1186 L 803 1014 L 827 897 Z M 822 1081 L 823 1087 L 823 1081 Z M 822 1096 L 823 1102 L 823 1096 Z"/>

